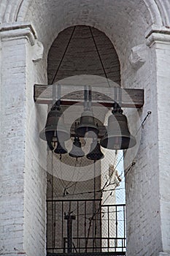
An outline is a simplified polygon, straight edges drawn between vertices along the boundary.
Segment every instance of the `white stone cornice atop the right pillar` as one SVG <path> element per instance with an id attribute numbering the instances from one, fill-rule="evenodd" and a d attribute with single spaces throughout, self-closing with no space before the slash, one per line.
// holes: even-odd
<path id="1" fill-rule="evenodd" d="M 152 26 L 145 34 L 146 45 L 151 47 L 156 42 L 170 45 L 170 28 Z"/>

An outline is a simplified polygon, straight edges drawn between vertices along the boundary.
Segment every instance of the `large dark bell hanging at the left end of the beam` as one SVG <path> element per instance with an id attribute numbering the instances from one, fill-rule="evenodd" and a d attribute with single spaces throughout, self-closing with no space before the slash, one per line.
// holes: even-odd
<path id="1" fill-rule="evenodd" d="M 47 145 L 51 150 L 55 148 L 55 143 L 59 141 L 69 140 L 69 132 L 63 121 L 63 113 L 61 108 L 53 107 L 47 116 L 45 128 L 39 133 L 42 140 L 47 140 Z"/>

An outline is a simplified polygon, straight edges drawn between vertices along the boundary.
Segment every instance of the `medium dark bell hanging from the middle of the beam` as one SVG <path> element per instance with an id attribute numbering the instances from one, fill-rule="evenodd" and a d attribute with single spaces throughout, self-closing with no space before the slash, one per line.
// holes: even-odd
<path id="1" fill-rule="evenodd" d="M 86 132 L 94 132 L 98 135 L 99 129 L 94 122 L 93 113 L 85 110 L 80 118 L 80 124 L 75 128 L 75 133 L 80 137 L 84 137 Z"/>

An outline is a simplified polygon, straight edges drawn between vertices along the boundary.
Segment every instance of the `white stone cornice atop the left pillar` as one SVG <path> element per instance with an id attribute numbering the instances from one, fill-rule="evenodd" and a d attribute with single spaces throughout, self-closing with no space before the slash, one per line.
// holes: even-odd
<path id="1" fill-rule="evenodd" d="M 36 31 L 31 23 L 3 23 L 0 25 L 1 41 L 16 38 L 26 38 L 31 45 L 35 44 L 37 39 Z"/>

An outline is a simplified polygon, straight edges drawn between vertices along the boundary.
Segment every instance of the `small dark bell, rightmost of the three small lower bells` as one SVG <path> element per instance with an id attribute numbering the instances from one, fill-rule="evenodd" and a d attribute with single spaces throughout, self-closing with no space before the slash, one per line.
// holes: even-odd
<path id="1" fill-rule="evenodd" d="M 93 161 L 97 161 L 104 158 L 104 154 L 101 152 L 100 144 L 94 140 L 90 146 L 90 153 L 87 154 L 87 158 Z"/>

